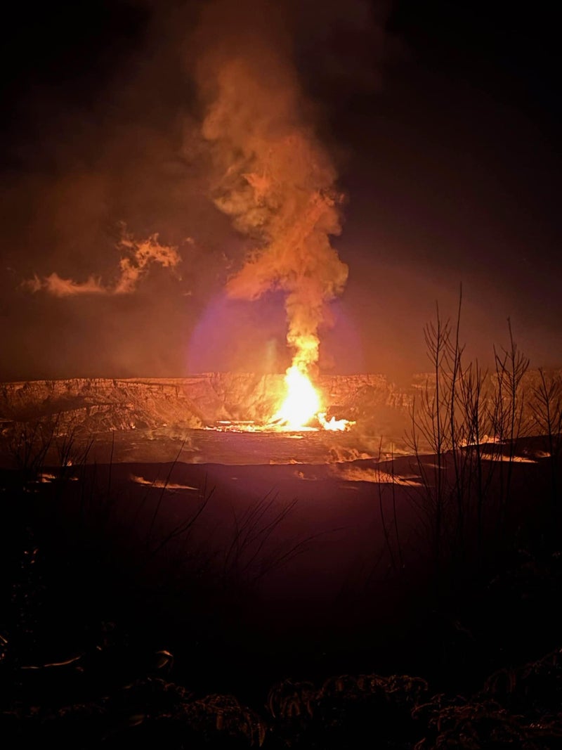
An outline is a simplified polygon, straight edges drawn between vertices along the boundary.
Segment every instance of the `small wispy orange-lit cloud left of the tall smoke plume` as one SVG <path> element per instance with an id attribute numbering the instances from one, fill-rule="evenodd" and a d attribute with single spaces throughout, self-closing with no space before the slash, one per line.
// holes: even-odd
<path id="1" fill-rule="evenodd" d="M 90 276 L 87 281 L 73 281 L 52 273 L 43 278 L 34 275 L 33 278 L 25 280 L 22 287 L 32 293 L 43 291 L 55 297 L 132 294 L 154 263 L 169 269 L 174 269 L 181 263 L 178 248 L 161 245 L 157 234 L 139 241 L 123 229 L 117 248 L 122 257 L 119 262 L 119 276 L 114 284 L 103 284 L 101 279 L 95 276 Z"/>

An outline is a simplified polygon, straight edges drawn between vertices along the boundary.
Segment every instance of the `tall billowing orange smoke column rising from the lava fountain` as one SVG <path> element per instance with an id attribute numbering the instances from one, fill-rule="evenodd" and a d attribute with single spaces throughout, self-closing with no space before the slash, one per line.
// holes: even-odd
<path id="1" fill-rule="evenodd" d="M 282 290 L 293 365 L 306 371 L 318 361 L 326 305 L 348 276 L 330 245 L 340 231 L 336 171 L 306 116 L 276 9 L 246 2 L 232 13 L 232 3 L 219 1 L 204 17 L 201 36 L 207 45 L 197 68 L 206 106 L 202 134 L 217 169 L 212 195 L 256 242 L 227 292 L 253 300 Z"/>

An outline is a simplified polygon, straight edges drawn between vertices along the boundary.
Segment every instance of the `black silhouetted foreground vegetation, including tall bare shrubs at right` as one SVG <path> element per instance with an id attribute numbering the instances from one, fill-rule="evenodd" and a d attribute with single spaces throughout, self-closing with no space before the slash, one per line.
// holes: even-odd
<path id="1" fill-rule="evenodd" d="M 217 530 L 214 487 L 170 499 L 174 462 L 118 495 L 115 466 L 55 419 L 10 433 L 0 731 L 14 747 L 562 745 L 562 380 L 530 380 L 510 326 L 493 371 L 465 362 L 460 305 L 425 333 L 415 476 L 379 455 L 381 543 L 316 663 L 301 631 L 270 653 L 253 624 L 262 583 L 315 541 L 278 533 L 292 503 L 272 490 Z"/>

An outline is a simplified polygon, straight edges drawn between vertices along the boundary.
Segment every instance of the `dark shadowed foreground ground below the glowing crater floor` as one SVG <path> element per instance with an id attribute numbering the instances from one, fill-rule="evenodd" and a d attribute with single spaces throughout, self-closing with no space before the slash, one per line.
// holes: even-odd
<path id="1" fill-rule="evenodd" d="M 283 440 L 274 463 L 250 437 L 243 463 L 113 444 L 4 470 L 7 746 L 562 746 L 559 466 L 538 439 L 332 463 L 283 463 L 305 454 Z"/>

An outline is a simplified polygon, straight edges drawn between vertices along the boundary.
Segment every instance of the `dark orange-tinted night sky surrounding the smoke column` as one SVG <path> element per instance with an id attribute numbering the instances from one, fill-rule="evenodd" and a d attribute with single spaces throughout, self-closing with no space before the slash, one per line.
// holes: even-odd
<path id="1" fill-rule="evenodd" d="M 189 72 L 201 5 L 20 4 L 4 23 L 1 380 L 287 364 L 280 293 L 223 294 L 248 244 L 206 190 Z M 561 365 L 548 4 L 297 6 L 294 62 L 347 195 L 334 246 L 349 278 L 321 367 L 398 379 L 426 369 L 423 325 L 436 302 L 454 314 L 460 284 L 469 354 L 486 362 L 507 344 L 510 317 L 534 365 Z M 178 272 L 155 264 L 123 296 L 22 288 L 52 272 L 110 284 L 121 222 L 177 245 Z"/>

